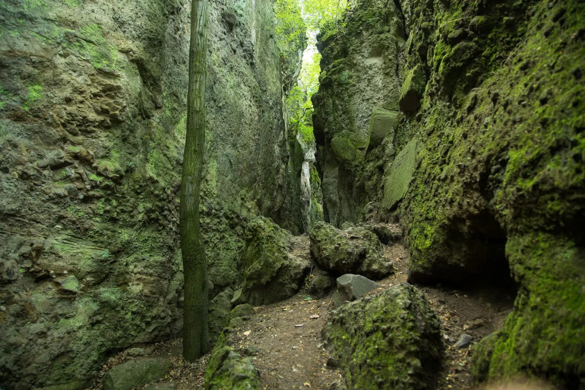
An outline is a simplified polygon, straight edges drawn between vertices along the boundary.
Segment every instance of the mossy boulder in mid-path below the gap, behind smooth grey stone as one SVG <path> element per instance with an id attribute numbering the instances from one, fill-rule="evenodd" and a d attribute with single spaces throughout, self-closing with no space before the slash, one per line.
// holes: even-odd
<path id="1" fill-rule="evenodd" d="M 341 230 L 326 222 L 318 222 L 309 238 L 311 254 L 325 269 L 369 278 L 383 278 L 394 272 L 392 263 L 383 257 L 380 240 L 366 228 Z"/>

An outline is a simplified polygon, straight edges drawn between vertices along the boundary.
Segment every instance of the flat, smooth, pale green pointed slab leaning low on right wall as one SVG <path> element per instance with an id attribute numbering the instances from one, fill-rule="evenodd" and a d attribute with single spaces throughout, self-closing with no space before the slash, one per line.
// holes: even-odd
<path id="1" fill-rule="evenodd" d="M 414 173 L 416 156 L 417 139 L 414 138 L 398 153 L 392 163 L 390 174 L 384 182 L 384 197 L 381 202 L 383 208 L 387 210 L 394 208 L 406 194 Z"/>

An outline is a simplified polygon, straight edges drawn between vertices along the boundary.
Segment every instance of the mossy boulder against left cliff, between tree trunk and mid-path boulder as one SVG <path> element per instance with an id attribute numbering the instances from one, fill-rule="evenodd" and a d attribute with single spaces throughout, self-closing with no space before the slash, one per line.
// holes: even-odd
<path id="1" fill-rule="evenodd" d="M 265 305 L 295 294 L 311 268 L 309 260 L 294 256 L 291 234 L 266 217 L 246 228 L 243 293 L 246 301 Z"/>

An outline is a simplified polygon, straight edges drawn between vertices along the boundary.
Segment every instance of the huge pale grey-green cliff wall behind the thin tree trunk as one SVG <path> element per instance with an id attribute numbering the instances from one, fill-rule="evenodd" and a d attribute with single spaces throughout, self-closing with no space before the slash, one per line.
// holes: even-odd
<path id="1" fill-rule="evenodd" d="M 3 388 L 89 378 L 111 351 L 182 328 L 189 7 L 0 2 Z M 211 2 L 208 61 L 202 224 L 217 292 L 238 280 L 247 218 L 278 221 L 284 203 L 271 2 Z"/>

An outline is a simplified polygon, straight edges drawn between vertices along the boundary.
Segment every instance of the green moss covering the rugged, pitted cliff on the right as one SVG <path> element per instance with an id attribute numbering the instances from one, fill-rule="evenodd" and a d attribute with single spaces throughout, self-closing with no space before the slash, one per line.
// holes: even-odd
<path id="1" fill-rule="evenodd" d="M 495 225 L 507 235 L 520 293 L 503 331 L 476 354 L 478 379 L 522 373 L 570 388 L 585 372 L 585 79 L 576 71 L 585 47 L 575 38 L 585 9 L 563 7 L 562 22 L 553 23 L 558 11 L 546 2 L 502 3 L 481 25 L 470 6 L 458 19 L 463 27 L 473 22 L 477 35 L 455 46 L 433 37 L 433 96 L 425 97 L 422 117 L 402 121 L 395 139 L 400 148 L 421 137 L 400 207 L 411 276 L 472 274 L 473 232 Z M 457 9 L 463 2 L 434 17 L 441 25 Z M 515 18 L 513 29 L 504 16 Z"/>

